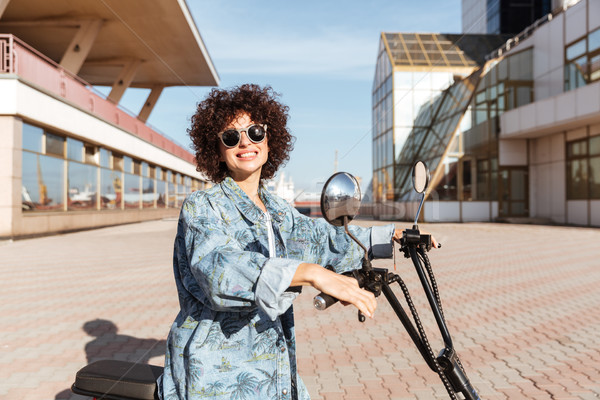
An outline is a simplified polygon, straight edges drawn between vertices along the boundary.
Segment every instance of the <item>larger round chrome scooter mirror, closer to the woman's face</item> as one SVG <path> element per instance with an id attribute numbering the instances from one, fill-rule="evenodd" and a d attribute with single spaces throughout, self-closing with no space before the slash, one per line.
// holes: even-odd
<path id="1" fill-rule="evenodd" d="M 321 213 L 327 222 L 335 226 L 344 225 L 358 213 L 360 208 L 360 186 L 356 178 L 346 172 L 333 174 L 321 193 Z"/>

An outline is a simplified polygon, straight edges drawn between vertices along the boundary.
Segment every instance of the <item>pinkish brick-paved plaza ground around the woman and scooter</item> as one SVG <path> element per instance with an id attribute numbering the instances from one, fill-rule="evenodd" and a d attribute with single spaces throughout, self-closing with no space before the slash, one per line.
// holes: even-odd
<path id="1" fill-rule="evenodd" d="M 0 242 L 0 399 L 83 399 L 68 388 L 97 359 L 161 365 L 178 311 L 175 227 L 165 219 Z M 455 348 L 482 399 L 600 397 L 600 230 L 422 228 L 443 244 L 430 259 Z M 412 264 L 399 253 L 395 264 L 437 351 Z M 393 270 L 394 261 L 375 266 Z M 448 398 L 383 297 L 361 324 L 350 307 L 314 310 L 314 294 L 305 289 L 295 303 L 298 365 L 313 399 Z"/>

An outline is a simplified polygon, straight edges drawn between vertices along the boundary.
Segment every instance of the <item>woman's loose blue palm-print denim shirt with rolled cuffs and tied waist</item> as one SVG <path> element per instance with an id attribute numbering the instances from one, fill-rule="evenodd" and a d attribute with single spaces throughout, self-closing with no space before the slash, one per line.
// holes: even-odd
<path id="1" fill-rule="evenodd" d="M 182 206 L 173 255 L 181 310 L 158 380 L 162 399 L 309 399 L 296 371 L 289 285 L 302 262 L 343 272 L 361 267 L 363 251 L 343 228 L 301 215 L 263 187 L 259 195 L 271 218 L 231 178 Z M 350 229 L 391 256 L 393 225 Z"/>

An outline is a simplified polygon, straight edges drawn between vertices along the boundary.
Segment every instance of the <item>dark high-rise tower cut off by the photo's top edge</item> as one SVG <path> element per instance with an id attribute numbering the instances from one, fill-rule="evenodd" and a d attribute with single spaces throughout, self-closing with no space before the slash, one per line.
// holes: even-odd
<path id="1" fill-rule="evenodd" d="M 550 13 L 552 3 L 559 1 L 462 0 L 463 32 L 516 35 Z"/>

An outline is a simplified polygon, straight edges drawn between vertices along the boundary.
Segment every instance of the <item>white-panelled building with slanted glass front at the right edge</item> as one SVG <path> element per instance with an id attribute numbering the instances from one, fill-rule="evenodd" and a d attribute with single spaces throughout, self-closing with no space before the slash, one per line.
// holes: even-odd
<path id="1" fill-rule="evenodd" d="M 506 41 L 422 104 L 402 142 L 389 153 L 393 193 L 374 188 L 382 217 L 413 216 L 421 159 L 432 172 L 426 221 L 600 226 L 600 1 L 564 4 Z M 374 183 L 388 147 L 374 150 Z"/>

